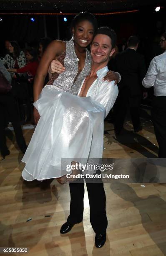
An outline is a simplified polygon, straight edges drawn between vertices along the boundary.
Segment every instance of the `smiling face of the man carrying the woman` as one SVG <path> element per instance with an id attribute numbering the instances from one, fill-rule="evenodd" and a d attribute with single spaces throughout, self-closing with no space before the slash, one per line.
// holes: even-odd
<path id="1" fill-rule="evenodd" d="M 107 35 L 98 34 L 91 44 L 91 56 L 94 63 L 108 63 L 109 57 L 113 55 L 111 38 Z"/>

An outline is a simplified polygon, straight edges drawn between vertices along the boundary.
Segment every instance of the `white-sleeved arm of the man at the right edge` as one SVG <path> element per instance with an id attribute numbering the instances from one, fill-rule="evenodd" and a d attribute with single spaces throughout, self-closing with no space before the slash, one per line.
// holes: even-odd
<path id="1" fill-rule="evenodd" d="M 150 88 L 154 85 L 156 81 L 156 76 L 157 76 L 157 63 L 156 59 L 152 59 L 150 66 L 148 68 L 148 72 L 146 73 L 146 76 L 144 77 L 142 84 L 146 88 Z"/>

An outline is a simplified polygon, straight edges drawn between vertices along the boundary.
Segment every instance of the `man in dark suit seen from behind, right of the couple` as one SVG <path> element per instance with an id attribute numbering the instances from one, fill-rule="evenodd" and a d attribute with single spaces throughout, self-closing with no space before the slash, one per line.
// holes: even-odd
<path id="1" fill-rule="evenodd" d="M 142 80 L 146 74 L 143 56 L 136 52 L 138 38 L 131 36 L 128 39 L 128 48 L 116 55 L 114 69 L 121 74 L 118 84 L 118 98 L 114 105 L 114 128 L 116 136 L 123 129 L 127 107 L 130 107 L 131 120 L 135 132 L 141 131 L 139 108 L 142 97 Z"/>

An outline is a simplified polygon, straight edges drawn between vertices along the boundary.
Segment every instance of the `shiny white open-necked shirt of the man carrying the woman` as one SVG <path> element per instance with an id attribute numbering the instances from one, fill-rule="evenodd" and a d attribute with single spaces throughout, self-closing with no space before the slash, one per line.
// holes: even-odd
<path id="1" fill-rule="evenodd" d="M 93 84 L 88 89 L 88 92 L 86 94 L 86 97 L 91 96 L 93 100 L 96 100 L 98 103 L 104 106 L 106 110 L 106 116 L 108 115 L 109 111 L 113 107 L 116 101 L 116 98 L 118 96 L 118 87 L 117 85 L 115 85 L 115 81 L 111 81 L 111 82 L 103 81 L 103 77 L 106 76 L 108 71 L 109 69 L 106 66 L 106 67 L 103 67 L 102 69 L 99 69 L 96 72 L 98 78 L 93 82 Z M 83 79 L 83 82 L 78 91 L 78 95 L 80 94 L 80 91 L 85 79 Z"/>

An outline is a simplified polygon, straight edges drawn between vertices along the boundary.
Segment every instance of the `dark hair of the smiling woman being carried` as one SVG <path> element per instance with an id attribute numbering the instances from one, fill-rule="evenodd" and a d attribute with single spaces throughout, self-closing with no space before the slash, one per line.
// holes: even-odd
<path id="1" fill-rule="evenodd" d="M 73 19 L 73 21 L 72 21 L 72 23 L 71 23 L 71 29 L 72 29 L 72 28 L 75 28 L 75 26 L 76 26 L 78 23 L 80 23 L 81 21 L 83 21 L 83 20 L 88 20 L 89 22 L 91 22 L 92 25 L 93 25 L 94 31 L 97 30 L 97 28 L 98 28 L 97 19 L 96 19 L 95 15 L 93 15 L 92 13 L 88 13 L 88 12 L 78 13 L 78 14 L 74 17 L 74 19 Z"/>

